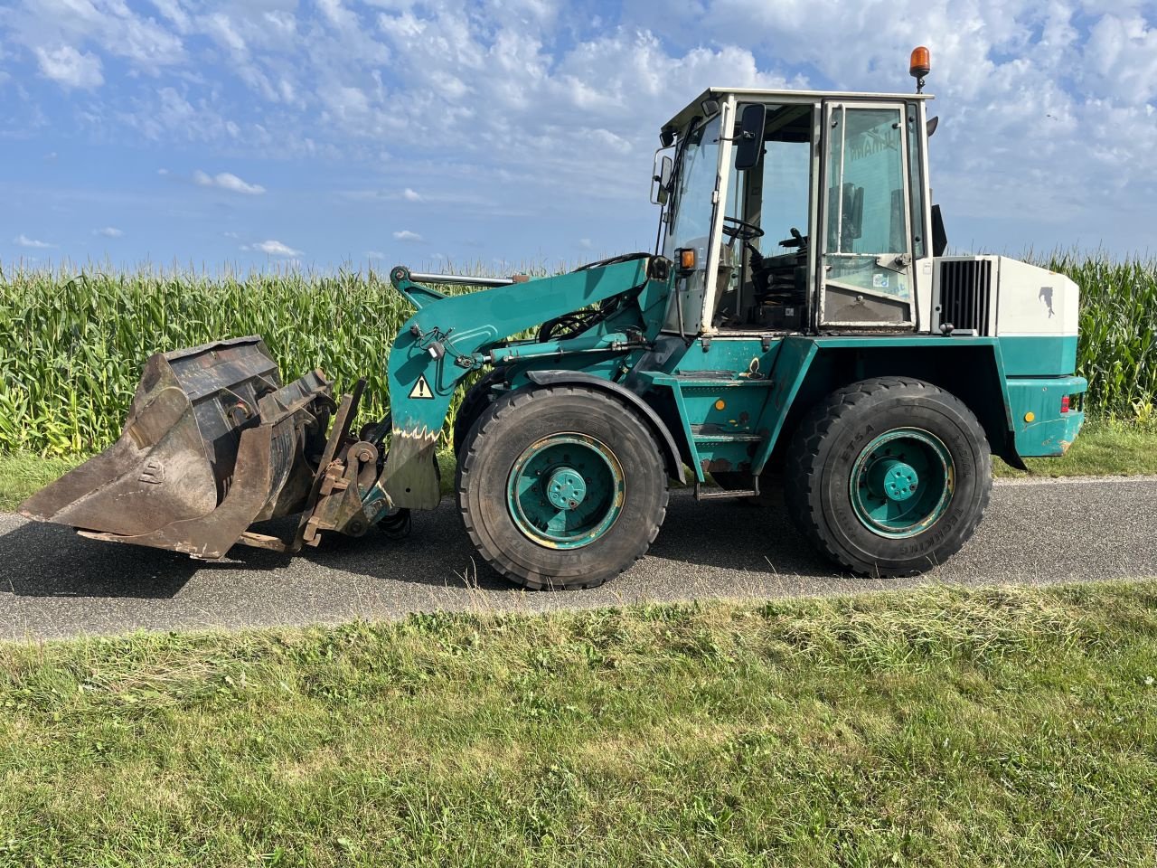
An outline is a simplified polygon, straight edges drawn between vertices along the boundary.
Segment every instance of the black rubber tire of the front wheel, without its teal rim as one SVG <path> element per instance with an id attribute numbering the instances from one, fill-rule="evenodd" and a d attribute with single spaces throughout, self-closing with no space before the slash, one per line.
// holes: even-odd
<path id="1" fill-rule="evenodd" d="M 508 483 L 531 446 L 557 435 L 592 437 L 622 470 L 617 517 L 592 542 L 536 542 L 511 514 Z M 496 398 L 458 456 L 458 509 L 482 559 L 530 589 L 594 588 L 647 553 L 666 515 L 668 476 L 647 424 L 621 402 L 582 385 L 529 387 Z"/>

